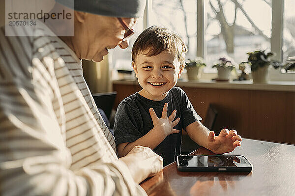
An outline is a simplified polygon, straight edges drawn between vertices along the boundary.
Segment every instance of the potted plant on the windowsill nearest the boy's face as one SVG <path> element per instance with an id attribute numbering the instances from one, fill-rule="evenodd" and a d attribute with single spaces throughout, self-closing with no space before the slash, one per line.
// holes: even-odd
<path id="1" fill-rule="evenodd" d="M 202 68 L 206 66 L 204 59 L 197 56 L 194 60 L 187 59 L 185 62 L 188 80 L 199 80 Z"/>

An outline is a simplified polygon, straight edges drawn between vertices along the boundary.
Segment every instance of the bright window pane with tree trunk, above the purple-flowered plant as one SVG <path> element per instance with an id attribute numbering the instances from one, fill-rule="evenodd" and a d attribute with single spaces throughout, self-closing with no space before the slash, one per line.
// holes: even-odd
<path id="1" fill-rule="evenodd" d="M 208 65 L 221 56 L 229 56 L 236 64 L 248 59 L 247 52 L 270 49 L 271 1 L 207 0 Z M 255 6 L 253 6 L 255 5 Z M 263 14 L 261 14 L 261 10 Z M 249 68 L 248 68 L 249 69 Z M 212 70 L 207 67 L 207 72 Z"/>

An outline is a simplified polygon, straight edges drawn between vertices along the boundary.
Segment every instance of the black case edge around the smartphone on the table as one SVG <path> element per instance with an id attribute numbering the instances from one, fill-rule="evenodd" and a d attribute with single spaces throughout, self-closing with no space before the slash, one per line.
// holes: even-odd
<path id="1" fill-rule="evenodd" d="M 221 157 L 221 156 L 241 156 L 244 157 L 248 163 L 251 165 L 251 167 L 234 167 L 234 166 L 221 166 L 221 167 L 186 167 L 186 166 L 180 166 L 178 163 L 178 157 L 183 156 L 183 155 L 178 155 L 177 156 L 177 169 L 179 171 L 218 171 L 218 172 L 250 172 L 253 168 L 252 164 L 246 159 L 246 157 L 242 155 L 209 155 L 209 156 L 216 156 L 216 157 Z M 192 155 L 192 156 L 197 156 L 197 155 Z M 201 155 L 199 155 L 201 156 Z M 205 155 L 206 156 L 206 155 Z"/>

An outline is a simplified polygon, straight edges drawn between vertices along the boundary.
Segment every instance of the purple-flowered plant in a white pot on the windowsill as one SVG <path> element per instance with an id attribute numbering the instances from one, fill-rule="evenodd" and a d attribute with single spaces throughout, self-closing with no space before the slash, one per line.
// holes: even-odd
<path id="1" fill-rule="evenodd" d="M 218 78 L 217 81 L 228 81 L 231 76 L 232 70 L 235 68 L 233 62 L 226 57 L 219 58 L 220 63 L 213 65 L 217 68 Z"/>

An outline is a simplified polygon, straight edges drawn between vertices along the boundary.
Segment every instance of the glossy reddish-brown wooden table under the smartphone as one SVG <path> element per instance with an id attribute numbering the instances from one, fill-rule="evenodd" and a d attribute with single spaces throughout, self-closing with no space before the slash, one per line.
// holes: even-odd
<path id="1" fill-rule="evenodd" d="M 213 155 L 199 148 L 192 155 Z M 250 173 L 181 172 L 176 162 L 141 183 L 149 196 L 295 196 L 295 146 L 243 139 L 226 155 L 244 155 Z"/>

